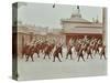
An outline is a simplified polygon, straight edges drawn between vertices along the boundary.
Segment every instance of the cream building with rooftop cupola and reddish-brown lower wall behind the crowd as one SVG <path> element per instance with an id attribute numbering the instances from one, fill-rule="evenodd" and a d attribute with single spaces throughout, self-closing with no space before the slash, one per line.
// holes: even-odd
<path id="1" fill-rule="evenodd" d="M 102 23 L 98 21 L 98 18 L 92 22 L 84 19 L 79 7 L 77 7 L 77 13 L 73 12 L 69 19 L 62 19 L 61 23 L 66 35 L 66 42 L 72 38 L 79 39 L 85 35 L 102 39 Z"/>

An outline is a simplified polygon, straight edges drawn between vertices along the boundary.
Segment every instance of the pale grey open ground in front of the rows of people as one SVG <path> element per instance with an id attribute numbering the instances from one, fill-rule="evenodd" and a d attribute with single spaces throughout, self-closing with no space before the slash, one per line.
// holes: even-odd
<path id="1" fill-rule="evenodd" d="M 53 62 L 46 58 L 43 60 L 43 54 L 38 59 L 34 54 L 34 62 L 31 59 L 25 62 L 25 59 L 18 60 L 19 80 L 42 80 L 42 79 L 62 79 L 62 77 L 77 77 L 77 76 L 95 76 L 107 74 L 107 60 L 99 59 L 97 54 L 94 59 L 88 59 L 84 62 L 81 59 L 77 62 L 77 56 L 73 53 L 73 60 L 65 59 L 66 49 L 63 50 L 64 58 L 62 62 Z M 86 59 L 86 55 L 85 55 Z"/>

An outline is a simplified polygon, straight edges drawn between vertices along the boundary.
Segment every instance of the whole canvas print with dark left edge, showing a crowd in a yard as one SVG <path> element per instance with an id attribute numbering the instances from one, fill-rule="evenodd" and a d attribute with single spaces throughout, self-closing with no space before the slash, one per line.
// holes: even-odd
<path id="1" fill-rule="evenodd" d="M 107 75 L 107 8 L 15 2 L 12 14 L 14 80 Z"/>

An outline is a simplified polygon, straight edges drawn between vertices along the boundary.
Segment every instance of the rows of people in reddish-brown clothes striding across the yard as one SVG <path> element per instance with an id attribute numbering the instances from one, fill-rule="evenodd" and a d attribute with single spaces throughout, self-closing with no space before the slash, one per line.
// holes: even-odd
<path id="1" fill-rule="evenodd" d="M 63 48 L 67 49 L 66 56 L 63 55 Z M 56 59 L 62 62 L 62 58 L 70 58 L 73 60 L 73 55 L 77 56 L 77 61 L 80 59 L 86 61 L 89 56 L 94 59 L 96 54 L 99 55 L 100 60 L 102 58 L 105 60 L 107 59 L 106 45 L 102 43 L 102 40 L 96 38 L 87 39 L 87 37 L 82 39 L 70 39 L 66 45 L 62 42 L 34 41 L 23 46 L 22 58 L 25 58 L 26 61 L 31 58 L 31 60 L 34 61 L 33 55 L 36 55 L 35 53 L 37 58 L 43 58 L 45 60 L 47 56 L 48 59 L 53 59 L 53 62 L 55 62 Z"/>

